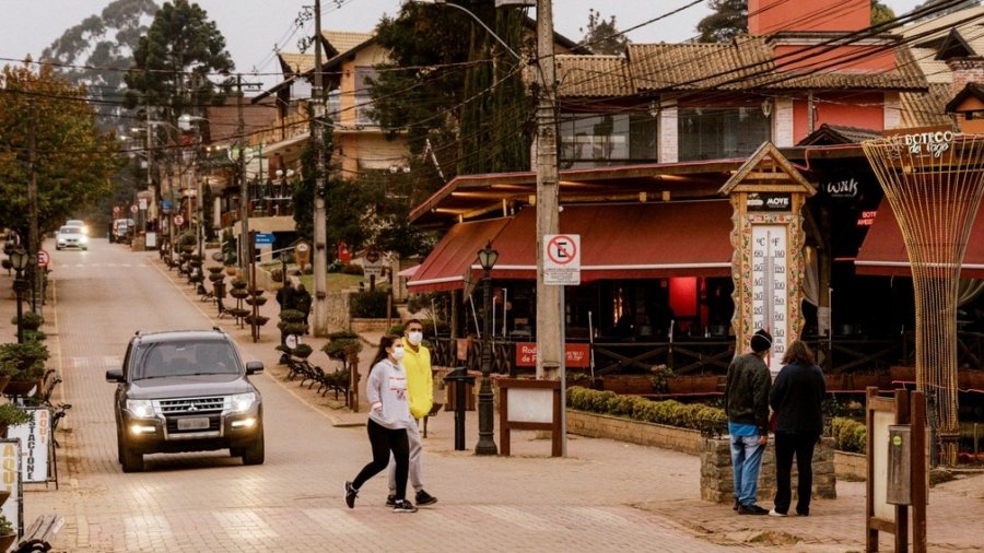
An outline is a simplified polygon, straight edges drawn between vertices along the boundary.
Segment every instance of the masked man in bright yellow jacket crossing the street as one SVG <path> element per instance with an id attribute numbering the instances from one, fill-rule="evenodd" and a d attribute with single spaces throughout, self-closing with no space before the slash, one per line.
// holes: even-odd
<path id="1" fill-rule="evenodd" d="M 423 325 L 418 319 L 410 319 L 403 327 L 403 349 L 406 354 L 401 360 L 407 373 L 407 395 L 410 397 L 410 414 L 418 422 L 407 428 L 407 438 L 410 442 L 410 484 L 417 490 L 415 503 L 418 506 L 433 505 L 437 498 L 423 489 L 423 480 L 420 470 L 420 420 L 431 412 L 434 407 L 434 377 L 431 373 L 431 351 L 422 344 Z M 389 495 L 386 505 L 396 504 L 396 463 L 389 463 Z"/>

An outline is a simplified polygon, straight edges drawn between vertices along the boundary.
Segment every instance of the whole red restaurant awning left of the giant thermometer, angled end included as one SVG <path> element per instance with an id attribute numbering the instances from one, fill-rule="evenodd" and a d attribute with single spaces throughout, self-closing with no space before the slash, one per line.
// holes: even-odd
<path id="1" fill-rule="evenodd" d="M 727 200 L 565 205 L 560 231 L 581 235 L 581 280 L 727 276 L 731 272 L 731 204 Z M 441 240 L 408 283 L 414 293 L 462 287 L 481 276 L 476 254 L 493 233 L 493 279 L 535 280 L 536 208 L 495 232 L 460 223 Z M 472 236 L 472 231 L 481 236 Z M 434 268 L 427 270 L 429 268 Z M 438 269 L 440 268 L 440 269 Z"/>

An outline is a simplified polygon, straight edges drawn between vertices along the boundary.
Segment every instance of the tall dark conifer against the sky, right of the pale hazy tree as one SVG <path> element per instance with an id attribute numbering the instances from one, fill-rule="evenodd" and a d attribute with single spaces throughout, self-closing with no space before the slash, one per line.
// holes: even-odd
<path id="1" fill-rule="evenodd" d="M 233 85 L 231 77 L 221 86 L 209 77 L 234 69 L 225 38 L 204 10 L 188 0 L 165 2 L 125 75 L 127 106 L 160 106 L 172 123 L 185 113 L 200 115 L 208 104 L 221 105 Z"/>

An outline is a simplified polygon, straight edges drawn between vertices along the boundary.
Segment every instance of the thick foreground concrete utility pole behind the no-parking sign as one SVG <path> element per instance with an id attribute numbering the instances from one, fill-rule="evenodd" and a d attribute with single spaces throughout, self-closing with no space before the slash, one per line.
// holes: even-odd
<path id="1" fill-rule="evenodd" d="M 563 362 L 561 286 L 543 284 L 543 242 L 558 234 L 557 71 L 553 55 L 553 7 L 537 0 L 537 378 L 558 378 Z"/>

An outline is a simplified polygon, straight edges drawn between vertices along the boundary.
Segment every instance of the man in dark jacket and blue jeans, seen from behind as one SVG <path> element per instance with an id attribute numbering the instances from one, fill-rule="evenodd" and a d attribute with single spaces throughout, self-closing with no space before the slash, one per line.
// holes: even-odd
<path id="1" fill-rule="evenodd" d="M 772 334 L 760 329 L 751 338 L 751 353 L 735 357 L 728 367 L 725 388 L 725 414 L 731 444 L 735 472 L 735 510 L 739 515 L 768 515 L 755 504 L 759 470 L 769 443 L 769 388 L 772 377 L 765 355 L 772 348 Z"/>

